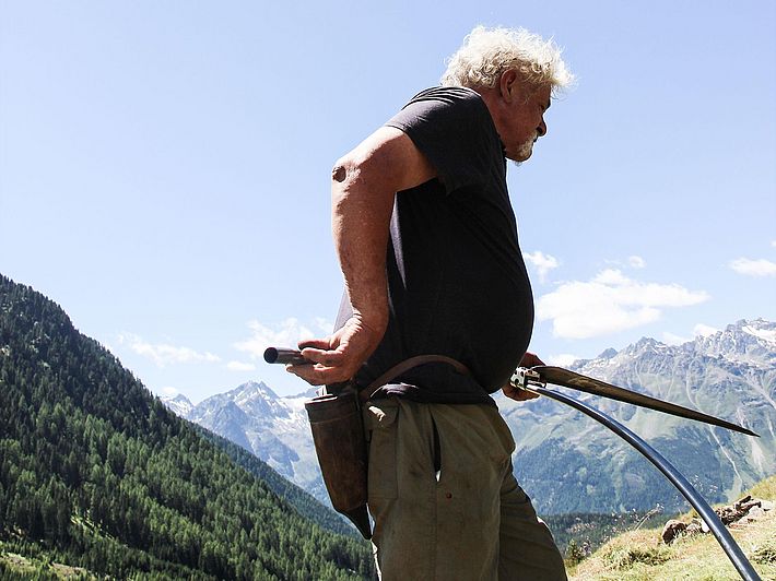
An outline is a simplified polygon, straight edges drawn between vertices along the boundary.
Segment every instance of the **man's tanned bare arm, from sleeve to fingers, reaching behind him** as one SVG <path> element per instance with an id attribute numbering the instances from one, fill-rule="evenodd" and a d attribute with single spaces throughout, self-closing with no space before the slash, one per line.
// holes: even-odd
<path id="1" fill-rule="evenodd" d="M 317 365 L 291 366 L 291 372 L 313 384 L 345 381 L 375 351 L 388 324 L 386 251 L 396 192 L 435 175 L 412 140 L 388 127 L 337 162 L 331 226 L 353 317 L 332 335 L 301 343 Z"/>

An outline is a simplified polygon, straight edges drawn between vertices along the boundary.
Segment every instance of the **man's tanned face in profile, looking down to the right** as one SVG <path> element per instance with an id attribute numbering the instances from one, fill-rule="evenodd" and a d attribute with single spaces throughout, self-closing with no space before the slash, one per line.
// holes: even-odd
<path id="1" fill-rule="evenodd" d="M 544 111 L 550 107 L 552 87 L 544 85 L 528 90 L 515 87 L 514 98 L 506 104 L 507 115 L 496 129 L 506 149 L 506 156 L 525 162 L 533 153 L 533 143 L 546 133 Z"/>

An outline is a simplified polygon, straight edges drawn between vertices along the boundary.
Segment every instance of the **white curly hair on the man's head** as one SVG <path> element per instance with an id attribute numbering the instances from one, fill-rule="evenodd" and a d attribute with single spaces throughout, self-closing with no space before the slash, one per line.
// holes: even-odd
<path id="1" fill-rule="evenodd" d="M 550 84 L 555 94 L 574 82 L 561 52 L 552 39 L 525 28 L 477 26 L 448 59 L 442 84 L 493 88 L 503 72 L 515 69 L 529 85 Z"/>

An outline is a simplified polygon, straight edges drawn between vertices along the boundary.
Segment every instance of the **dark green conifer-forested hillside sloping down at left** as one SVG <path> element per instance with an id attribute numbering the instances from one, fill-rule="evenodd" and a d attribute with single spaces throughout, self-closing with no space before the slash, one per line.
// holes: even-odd
<path id="1" fill-rule="evenodd" d="M 366 543 L 303 518 L 257 470 L 0 275 L 0 541 L 122 579 L 373 574 Z"/>

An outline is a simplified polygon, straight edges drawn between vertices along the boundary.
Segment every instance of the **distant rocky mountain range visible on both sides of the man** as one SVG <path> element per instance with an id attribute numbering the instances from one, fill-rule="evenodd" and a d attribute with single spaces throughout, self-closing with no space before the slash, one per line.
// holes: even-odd
<path id="1" fill-rule="evenodd" d="M 607 349 L 575 361 L 569 369 L 757 432 L 760 438 L 748 437 L 566 391 L 646 439 L 707 500 L 728 500 L 776 473 L 776 323 L 742 320 L 681 345 L 644 337 L 619 352 Z M 267 384 L 251 381 L 197 405 L 183 395 L 163 401 L 326 502 L 304 412 L 304 401 L 313 395 L 309 390 L 280 398 Z M 516 475 L 540 513 L 685 508 L 651 464 L 593 420 L 548 399 L 495 399 L 517 441 Z"/>

